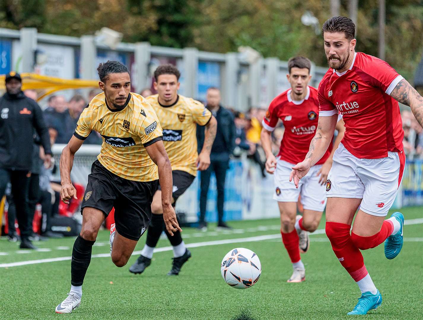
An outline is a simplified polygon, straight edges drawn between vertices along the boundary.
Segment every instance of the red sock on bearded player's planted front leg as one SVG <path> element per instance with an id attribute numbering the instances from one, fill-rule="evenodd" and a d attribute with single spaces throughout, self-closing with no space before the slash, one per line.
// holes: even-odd
<path id="1" fill-rule="evenodd" d="M 349 224 L 326 222 L 326 235 L 339 262 L 357 282 L 368 272 L 364 265 L 363 255 L 351 240 L 350 227 Z"/>

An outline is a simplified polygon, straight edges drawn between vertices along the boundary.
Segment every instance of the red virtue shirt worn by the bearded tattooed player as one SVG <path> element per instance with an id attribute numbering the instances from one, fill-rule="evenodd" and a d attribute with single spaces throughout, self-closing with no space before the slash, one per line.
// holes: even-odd
<path id="1" fill-rule="evenodd" d="M 389 95 L 401 77 L 388 63 L 363 52 L 349 70 L 329 69 L 319 85 L 320 116 L 341 113 L 344 147 L 357 158 L 378 159 L 403 150 L 398 102 Z"/>

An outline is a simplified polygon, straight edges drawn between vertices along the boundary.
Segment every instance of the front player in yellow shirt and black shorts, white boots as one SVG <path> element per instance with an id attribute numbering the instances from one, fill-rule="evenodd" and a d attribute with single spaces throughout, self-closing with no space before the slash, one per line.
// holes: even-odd
<path id="1" fill-rule="evenodd" d="M 131 79 L 126 66 L 107 61 L 100 63 L 97 70 L 103 93 L 95 96 L 82 111 L 74 135 L 60 157 L 60 196 L 63 202 L 69 203 L 71 197 L 76 199 L 70 178 L 75 153 L 92 130 L 103 137 L 82 200 L 82 230 L 72 251 L 71 290 L 56 307 L 57 313 L 70 313 L 80 305 L 92 246 L 113 207 L 115 224 L 110 230 L 110 255 L 118 267 L 126 265 L 148 227 L 151 202 L 159 181 L 166 229 L 170 235 L 182 231 L 172 207 L 170 161 L 154 109 L 145 98 L 129 92 Z"/>

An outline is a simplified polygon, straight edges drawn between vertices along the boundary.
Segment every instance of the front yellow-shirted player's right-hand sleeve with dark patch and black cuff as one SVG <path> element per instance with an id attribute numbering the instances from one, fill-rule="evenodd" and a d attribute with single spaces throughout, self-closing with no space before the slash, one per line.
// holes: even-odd
<path id="1" fill-rule="evenodd" d="M 147 147 L 156 141 L 163 140 L 163 130 L 153 107 L 149 104 L 144 105 L 143 112 L 146 116 L 140 114 L 135 121 L 135 134 L 141 138 L 144 147 Z"/>

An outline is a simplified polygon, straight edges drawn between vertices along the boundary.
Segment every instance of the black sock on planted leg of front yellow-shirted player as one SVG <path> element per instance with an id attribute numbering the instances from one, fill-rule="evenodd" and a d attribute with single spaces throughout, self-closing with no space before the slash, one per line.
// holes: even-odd
<path id="1" fill-rule="evenodd" d="M 72 250 L 71 284 L 81 286 L 84 282 L 85 273 L 91 261 L 91 250 L 96 241 L 89 241 L 78 235 Z"/>

